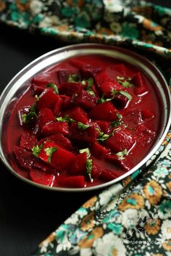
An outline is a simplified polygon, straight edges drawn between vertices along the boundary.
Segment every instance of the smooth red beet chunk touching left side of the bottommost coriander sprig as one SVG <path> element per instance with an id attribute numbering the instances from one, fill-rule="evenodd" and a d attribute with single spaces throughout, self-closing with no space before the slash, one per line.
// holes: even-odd
<path id="1" fill-rule="evenodd" d="M 68 173 L 72 176 L 79 176 L 84 175 L 86 176 L 87 169 L 86 169 L 86 162 L 87 162 L 87 154 L 84 152 L 83 154 L 78 154 L 75 156 L 68 166 Z"/>

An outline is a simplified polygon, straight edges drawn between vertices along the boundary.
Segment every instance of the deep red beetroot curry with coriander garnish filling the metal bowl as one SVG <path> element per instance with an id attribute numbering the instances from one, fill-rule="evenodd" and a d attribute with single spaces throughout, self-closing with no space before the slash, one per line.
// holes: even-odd
<path id="1" fill-rule="evenodd" d="M 9 122 L 14 169 L 36 183 L 71 188 L 122 176 L 149 153 L 158 133 L 154 88 L 137 67 L 99 55 L 39 73 Z"/>

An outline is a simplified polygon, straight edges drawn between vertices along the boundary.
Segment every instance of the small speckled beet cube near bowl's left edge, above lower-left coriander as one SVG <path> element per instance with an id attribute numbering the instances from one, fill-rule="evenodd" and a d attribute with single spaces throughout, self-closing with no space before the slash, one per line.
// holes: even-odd
<path id="1" fill-rule="evenodd" d="M 31 150 L 33 146 L 36 146 L 38 143 L 38 140 L 36 136 L 33 134 L 30 134 L 28 132 L 22 133 L 21 139 L 20 139 L 20 146 L 24 149 Z"/>

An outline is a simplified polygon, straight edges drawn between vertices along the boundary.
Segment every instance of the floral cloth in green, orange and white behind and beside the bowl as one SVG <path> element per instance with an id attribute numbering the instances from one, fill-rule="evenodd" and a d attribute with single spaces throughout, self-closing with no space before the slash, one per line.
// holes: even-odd
<path id="1" fill-rule="evenodd" d="M 170 82 L 170 9 L 136 0 L 0 0 L 0 21 L 70 44 L 132 49 Z M 143 172 L 89 199 L 32 256 L 170 256 L 170 138 L 168 131 Z"/>

